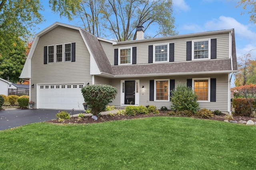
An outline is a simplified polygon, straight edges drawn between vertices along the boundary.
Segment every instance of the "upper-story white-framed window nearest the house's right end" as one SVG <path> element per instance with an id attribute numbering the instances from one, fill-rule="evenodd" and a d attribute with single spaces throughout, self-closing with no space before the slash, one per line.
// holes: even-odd
<path id="1" fill-rule="evenodd" d="M 193 59 L 209 59 L 210 40 L 193 41 Z"/>

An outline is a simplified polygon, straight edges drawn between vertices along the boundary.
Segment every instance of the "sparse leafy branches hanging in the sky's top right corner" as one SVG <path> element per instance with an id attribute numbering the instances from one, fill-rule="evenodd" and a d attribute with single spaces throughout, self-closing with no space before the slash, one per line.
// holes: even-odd
<path id="1" fill-rule="evenodd" d="M 238 6 L 242 6 L 244 10 L 249 8 L 250 10 L 247 12 L 250 14 L 250 21 L 256 23 L 256 1 L 255 0 L 240 0 L 237 2 Z M 244 13 L 244 12 L 243 12 Z M 241 13 L 241 14 L 243 14 Z"/>

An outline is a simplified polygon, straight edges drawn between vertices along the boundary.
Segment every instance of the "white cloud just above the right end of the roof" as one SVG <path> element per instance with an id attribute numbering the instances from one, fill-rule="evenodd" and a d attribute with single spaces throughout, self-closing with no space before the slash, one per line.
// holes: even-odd
<path id="1" fill-rule="evenodd" d="M 234 18 L 231 17 L 220 16 L 218 20 L 214 19 L 208 21 L 205 24 L 205 28 L 211 30 L 234 28 L 236 36 L 238 35 L 239 37 L 243 37 L 253 41 L 255 41 L 256 39 L 256 33 L 250 31 L 248 25 L 243 25 L 242 23 L 236 21 Z"/>

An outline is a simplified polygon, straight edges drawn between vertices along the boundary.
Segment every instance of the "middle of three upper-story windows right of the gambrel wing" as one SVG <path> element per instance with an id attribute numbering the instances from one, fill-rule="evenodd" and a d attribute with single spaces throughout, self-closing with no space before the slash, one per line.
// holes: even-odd
<path id="1" fill-rule="evenodd" d="M 157 62 L 169 62 L 169 45 L 168 44 L 160 44 L 154 45 L 154 63 Z"/>

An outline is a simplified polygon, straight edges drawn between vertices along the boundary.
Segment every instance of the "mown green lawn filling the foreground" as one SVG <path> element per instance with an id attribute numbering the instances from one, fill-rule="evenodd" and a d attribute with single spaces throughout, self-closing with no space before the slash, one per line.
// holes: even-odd
<path id="1" fill-rule="evenodd" d="M 256 126 L 182 117 L 0 131 L 1 170 L 256 168 Z"/>

